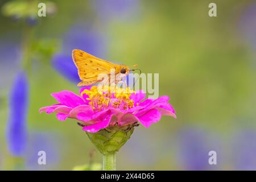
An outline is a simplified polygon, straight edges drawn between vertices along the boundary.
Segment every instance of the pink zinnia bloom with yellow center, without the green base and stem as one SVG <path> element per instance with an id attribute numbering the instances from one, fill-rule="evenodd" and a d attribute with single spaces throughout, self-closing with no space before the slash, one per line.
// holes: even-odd
<path id="1" fill-rule="evenodd" d="M 109 93 L 99 91 L 97 86 L 82 88 L 80 96 L 70 91 L 52 93 L 58 104 L 42 107 L 39 112 L 57 113 L 57 119 L 73 118 L 79 121 L 84 131 L 97 133 L 112 126 L 129 126 L 141 123 L 145 127 L 158 122 L 162 115 L 176 118 L 175 110 L 168 103 L 169 97 L 148 98 L 141 90 L 115 89 Z"/>

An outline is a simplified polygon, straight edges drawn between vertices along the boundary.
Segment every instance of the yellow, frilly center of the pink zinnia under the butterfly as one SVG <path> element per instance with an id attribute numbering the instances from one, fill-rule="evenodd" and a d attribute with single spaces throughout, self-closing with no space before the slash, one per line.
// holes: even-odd
<path id="1" fill-rule="evenodd" d="M 108 107 L 127 110 L 134 106 L 134 101 L 130 99 L 131 93 L 135 93 L 129 87 L 118 88 L 115 86 L 92 86 L 90 90 L 85 89 L 82 93 L 89 98 L 89 105 L 93 110 L 101 111 Z"/>

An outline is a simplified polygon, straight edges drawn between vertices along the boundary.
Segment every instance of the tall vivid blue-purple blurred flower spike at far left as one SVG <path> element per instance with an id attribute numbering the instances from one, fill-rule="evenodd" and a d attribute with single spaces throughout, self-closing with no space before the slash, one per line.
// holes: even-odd
<path id="1" fill-rule="evenodd" d="M 19 72 L 9 97 L 7 144 L 14 156 L 21 156 L 27 143 L 28 81 L 25 72 Z"/>

